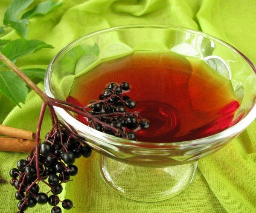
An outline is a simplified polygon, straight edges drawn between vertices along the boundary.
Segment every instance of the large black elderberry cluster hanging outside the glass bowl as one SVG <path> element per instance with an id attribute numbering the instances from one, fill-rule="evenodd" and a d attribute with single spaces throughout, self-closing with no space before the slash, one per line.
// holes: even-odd
<path id="1" fill-rule="evenodd" d="M 17 190 L 18 212 L 23 213 L 36 204 L 48 203 L 53 206 L 51 213 L 61 213 L 61 207 L 57 206 L 60 202 L 64 209 L 71 209 L 73 202 L 70 199 L 61 201 L 58 197 L 63 189 L 61 184 L 78 173 L 74 165 L 76 158 L 89 157 L 91 148 L 64 127 L 48 133 L 38 148 L 38 156 L 32 153 L 26 159 L 17 161 L 17 168 L 10 170 L 10 182 Z M 41 192 L 39 181 L 49 186 L 49 192 Z"/>

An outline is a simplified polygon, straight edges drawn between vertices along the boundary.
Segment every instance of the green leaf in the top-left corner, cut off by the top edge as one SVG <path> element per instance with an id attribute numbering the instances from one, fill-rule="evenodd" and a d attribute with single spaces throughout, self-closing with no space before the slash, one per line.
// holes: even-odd
<path id="1" fill-rule="evenodd" d="M 20 12 L 31 5 L 33 1 L 34 0 L 12 0 L 4 14 L 4 25 L 7 25 L 10 21 L 17 20 L 17 16 L 20 14 Z"/>

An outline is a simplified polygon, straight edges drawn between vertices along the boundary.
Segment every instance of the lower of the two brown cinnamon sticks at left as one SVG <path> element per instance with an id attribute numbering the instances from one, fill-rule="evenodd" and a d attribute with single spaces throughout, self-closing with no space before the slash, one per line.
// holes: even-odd
<path id="1" fill-rule="evenodd" d="M 22 138 L 0 137 L 0 151 L 30 153 L 35 141 Z"/>

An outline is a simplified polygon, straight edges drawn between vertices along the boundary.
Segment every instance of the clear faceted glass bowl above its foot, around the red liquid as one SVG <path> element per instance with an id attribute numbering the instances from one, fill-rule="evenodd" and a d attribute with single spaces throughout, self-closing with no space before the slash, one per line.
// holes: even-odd
<path id="1" fill-rule="evenodd" d="M 66 100 L 77 86 L 76 78 L 106 61 L 120 59 L 137 51 L 171 53 L 189 60 L 200 60 L 230 82 L 239 109 L 232 125 L 216 134 L 188 141 L 149 143 L 99 132 L 81 123 L 64 109 L 55 107 L 59 119 L 71 131 L 85 138 L 98 153 L 139 166 L 186 164 L 214 153 L 255 119 L 256 69 L 253 63 L 215 37 L 176 26 L 119 26 L 93 32 L 73 41 L 50 63 L 45 78 L 45 92 L 52 98 Z"/>

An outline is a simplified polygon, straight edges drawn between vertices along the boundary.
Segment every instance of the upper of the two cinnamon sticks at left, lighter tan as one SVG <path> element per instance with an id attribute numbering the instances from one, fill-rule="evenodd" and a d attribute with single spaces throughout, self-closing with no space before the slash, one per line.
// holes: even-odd
<path id="1" fill-rule="evenodd" d="M 0 124 L 0 134 L 13 138 L 23 138 L 26 140 L 35 140 L 35 132 L 20 130 L 14 127 L 7 127 Z"/>

